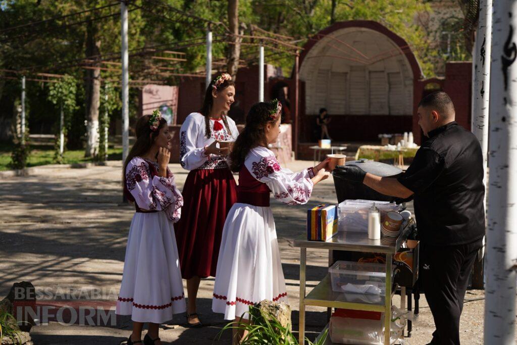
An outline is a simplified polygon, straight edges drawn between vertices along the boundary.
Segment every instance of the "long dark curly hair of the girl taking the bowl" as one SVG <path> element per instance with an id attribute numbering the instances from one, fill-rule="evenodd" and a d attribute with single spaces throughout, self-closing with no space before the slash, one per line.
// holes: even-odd
<path id="1" fill-rule="evenodd" d="M 265 128 L 268 123 L 278 120 L 274 114 L 277 111 L 278 101 L 259 102 L 253 104 L 246 116 L 246 126 L 239 134 L 230 153 L 230 169 L 238 172 L 251 149 L 260 145 L 267 145 Z"/>

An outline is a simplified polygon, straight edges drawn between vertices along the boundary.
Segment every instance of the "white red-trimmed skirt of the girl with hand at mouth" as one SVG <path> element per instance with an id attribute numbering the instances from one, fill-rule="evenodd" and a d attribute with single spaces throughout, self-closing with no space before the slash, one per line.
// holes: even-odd
<path id="1" fill-rule="evenodd" d="M 165 212 L 135 213 L 116 313 L 136 322 L 163 323 L 185 310 L 172 222 Z"/>

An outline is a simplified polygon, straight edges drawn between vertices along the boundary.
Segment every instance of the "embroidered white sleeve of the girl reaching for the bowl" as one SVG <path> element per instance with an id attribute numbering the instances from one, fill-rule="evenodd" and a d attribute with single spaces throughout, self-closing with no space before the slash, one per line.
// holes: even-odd
<path id="1" fill-rule="evenodd" d="M 262 149 L 262 151 L 265 151 Z M 265 183 L 273 192 L 275 199 L 288 205 L 301 205 L 311 197 L 312 183 L 308 169 L 300 173 L 293 173 L 289 169 L 282 169 L 275 156 L 263 155 L 253 149 L 245 161 L 245 167 L 258 181 Z"/>

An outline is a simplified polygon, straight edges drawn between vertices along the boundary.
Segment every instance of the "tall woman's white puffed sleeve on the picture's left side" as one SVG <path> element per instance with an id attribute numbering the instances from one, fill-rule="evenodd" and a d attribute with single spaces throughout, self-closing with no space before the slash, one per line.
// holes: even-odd
<path id="1" fill-rule="evenodd" d="M 179 130 L 179 163 L 186 170 L 197 169 L 208 160 L 208 157 L 203 154 L 205 147 L 196 147 L 199 132 L 199 124 L 194 116 L 192 114 L 187 116 Z"/>

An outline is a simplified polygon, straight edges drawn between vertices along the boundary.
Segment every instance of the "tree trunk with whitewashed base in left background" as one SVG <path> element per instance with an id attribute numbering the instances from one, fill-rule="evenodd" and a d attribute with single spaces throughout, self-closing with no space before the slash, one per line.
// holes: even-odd
<path id="1" fill-rule="evenodd" d="M 86 70 L 86 149 L 85 157 L 94 157 L 99 144 L 100 103 L 100 39 L 95 24 L 88 22 L 86 30 L 86 58 L 93 59 L 96 69 Z M 95 57 L 91 57 L 95 56 Z"/>

